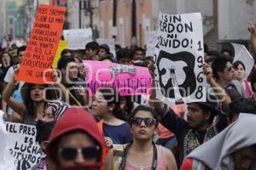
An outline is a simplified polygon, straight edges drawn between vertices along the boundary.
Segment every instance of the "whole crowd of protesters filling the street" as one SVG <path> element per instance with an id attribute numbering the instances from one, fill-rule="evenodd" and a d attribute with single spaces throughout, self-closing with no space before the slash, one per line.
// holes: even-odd
<path id="1" fill-rule="evenodd" d="M 248 25 L 253 54 L 256 29 Z M 64 49 L 53 83 L 17 82 L 26 46 L 1 48 L 3 119 L 37 127 L 46 154 L 33 170 L 58 169 L 241 169 L 256 167 L 256 66 L 233 62 L 228 49 L 207 50 L 202 66 L 207 101 L 166 105 L 156 99 L 154 59 L 141 47 L 88 42 Z M 115 57 L 116 56 L 116 57 Z M 150 96 L 120 96 L 119 89 L 86 92 L 83 60 L 148 67 Z"/>

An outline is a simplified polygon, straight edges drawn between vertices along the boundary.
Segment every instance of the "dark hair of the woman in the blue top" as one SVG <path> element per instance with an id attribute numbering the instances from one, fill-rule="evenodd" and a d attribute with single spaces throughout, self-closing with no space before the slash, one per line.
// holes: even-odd
<path id="1" fill-rule="evenodd" d="M 108 106 L 114 105 L 113 108 L 113 116 L 127 122 L 127 116 L 125 116 L 125 113 L 120 108 L 120 97 L 119 93 L 115 88 L 98 88 L 97 89 L 100 93 L 102 93 L 103 98 L 107 100 Z"/>

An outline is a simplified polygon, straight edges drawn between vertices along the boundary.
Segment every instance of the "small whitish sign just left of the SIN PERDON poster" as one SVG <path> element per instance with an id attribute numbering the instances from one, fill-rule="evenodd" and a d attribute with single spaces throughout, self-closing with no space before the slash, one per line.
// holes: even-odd
<path id="1" fill-rule="evenodd" d="M 147 44 L 146 56 L 154 56 L 154 48 L 157 44 L 157 31 L 145 32 L 145 42 Z"/>

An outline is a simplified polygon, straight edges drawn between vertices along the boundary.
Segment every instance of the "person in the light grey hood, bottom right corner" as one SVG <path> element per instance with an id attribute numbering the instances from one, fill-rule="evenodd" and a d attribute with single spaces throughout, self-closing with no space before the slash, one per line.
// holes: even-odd
<path id="1" fill-rule="evenodd" d="M 256 169 L 255 123 L 255 115 L 241 114 L 222 133 L 193 150 L 181 170 Z"/>

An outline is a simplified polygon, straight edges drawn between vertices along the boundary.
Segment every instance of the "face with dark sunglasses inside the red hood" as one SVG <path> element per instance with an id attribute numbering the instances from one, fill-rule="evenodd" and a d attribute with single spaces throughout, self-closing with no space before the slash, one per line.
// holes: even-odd
<path id="1" fill-rule="evenodd" d="M 61 137 L 57 160 L 61 168 L 96 163 L 99 146 L 86 133 L 71 133 Z"/>

